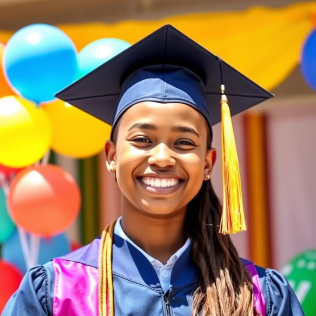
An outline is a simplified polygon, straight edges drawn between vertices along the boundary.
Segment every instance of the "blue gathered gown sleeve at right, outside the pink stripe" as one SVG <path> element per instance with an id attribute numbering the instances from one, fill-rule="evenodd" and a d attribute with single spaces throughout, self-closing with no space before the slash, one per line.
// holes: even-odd
<path id="1" fill-rule="evenodd" d="M 255 264 L 253 267 L 258 274 L 267 316 L 304 316 L 294 290 L 282 273 Z"/>

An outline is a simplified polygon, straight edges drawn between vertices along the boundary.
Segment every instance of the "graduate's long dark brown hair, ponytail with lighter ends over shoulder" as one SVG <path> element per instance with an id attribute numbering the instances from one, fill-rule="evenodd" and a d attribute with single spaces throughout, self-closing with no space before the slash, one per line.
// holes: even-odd
<path id="1" fill-rule="evenodd" d="M 112 140 L 116 143 L 118 125 Z M 212 136 L 208 129 L 207 149 Z M 253 316 L 251 277 L 240 261 L 229 235 L 219 233 L 222 214 L 211 184 L 203 181 L 200 191 L 189 202 L 185 228 L 192 240 L 192 258 L 200 270 L 200 279 L 193 293 L 192 315 Z"/>

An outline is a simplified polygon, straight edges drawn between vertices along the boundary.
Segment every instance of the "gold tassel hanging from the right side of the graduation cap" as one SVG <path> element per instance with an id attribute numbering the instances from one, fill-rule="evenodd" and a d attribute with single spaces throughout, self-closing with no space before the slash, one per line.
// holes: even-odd
<path id="1" fill-rule="evenodd" d="M 240 171 L 232 118 L 227 96 L 223 94 L 224 85 L 221 86 L 221 89 L 223 210 L 220 233 L 234 234 L 246 230 L 246 221 L 242 203 Z"/>

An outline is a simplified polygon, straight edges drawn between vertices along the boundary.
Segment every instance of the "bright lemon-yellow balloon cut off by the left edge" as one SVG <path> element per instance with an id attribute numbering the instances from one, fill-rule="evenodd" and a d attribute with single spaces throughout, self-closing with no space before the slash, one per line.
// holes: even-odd
<path id="1" fill-rule="evenodd" d="M 0 164 L 29 166 L 45 155 L 50 143 L 50 121 L 43 109 L 17 96 L 0 99 Z"/>

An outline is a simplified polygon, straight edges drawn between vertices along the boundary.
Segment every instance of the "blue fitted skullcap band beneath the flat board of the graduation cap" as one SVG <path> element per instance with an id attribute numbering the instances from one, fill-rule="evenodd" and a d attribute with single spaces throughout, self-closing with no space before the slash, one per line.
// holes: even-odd
<path id="1" fill-rule="evenodd" d="M 204 83 L 188 68 L 158 64 L 134 71 L 122 84 L 112 127 L 129 107 L 143 101 L 178 102 L 192 106 L 204 115 L 211 130 Z"/>

